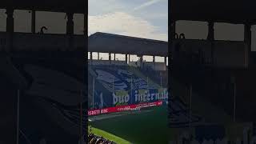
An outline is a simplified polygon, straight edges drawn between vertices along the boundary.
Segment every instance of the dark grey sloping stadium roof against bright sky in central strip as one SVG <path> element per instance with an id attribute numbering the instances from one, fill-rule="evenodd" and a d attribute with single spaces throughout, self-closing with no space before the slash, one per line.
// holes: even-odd
<path id="1" fill-rule="evenodd" d="M 167 57 L 168 42 L 98 32 L 88 38 L 88 51 Z"/>

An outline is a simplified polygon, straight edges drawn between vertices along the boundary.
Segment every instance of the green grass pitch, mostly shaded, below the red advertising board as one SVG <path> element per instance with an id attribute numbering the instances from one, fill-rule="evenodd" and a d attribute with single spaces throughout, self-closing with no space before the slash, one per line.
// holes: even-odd
<path id="1" fill-rule="evenodd" d="M 117 143 L 168 143 L 167 106 L 150 107 L 138 114 L 89 122 L 94 134 Z"/>

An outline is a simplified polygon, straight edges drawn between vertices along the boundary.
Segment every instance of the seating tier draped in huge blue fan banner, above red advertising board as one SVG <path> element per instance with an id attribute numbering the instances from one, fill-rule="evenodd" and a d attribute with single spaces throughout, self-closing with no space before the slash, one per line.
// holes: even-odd
<path id="1" fill-rule="evenodd" d="M 151 70 L 152 73 L 150 74 L 149 72 L 146 72 L 146 70 L 135 66 L 129 66 L 124 63 L 121 63 L 120 65 L 103 63 L 104 61 L 100 64 L 89 66 L 89 83 L 91 83 L 91 86 L 89 87 L 89 102 L 90 106 L 92 106 L 92 97 L 94 97 L 94 109 L 117 106 L 120 104 L 134 104 L 137 102 L 134 100 L 134 94 L 137 93 L 136 90 L 148 90 L 150 93 L 153 93 L 158 92 L 161 88 L 159 84 L 160 80 L 157 79 L 160 74 L 155 70 Z M 149 69 L 150 68 L 147 68 L 147 70 Z M 167 80 L 167 78 L 163 79 Z M 119 103 L 113 103 L 113 93 L 119 94 L 120 96 L 124 96 L 124 94 L 132 95 L 129 98 L 129 102 L 120 100 L 118 101 Z M 153 101 L 156 101 L 156 99 Z"/>

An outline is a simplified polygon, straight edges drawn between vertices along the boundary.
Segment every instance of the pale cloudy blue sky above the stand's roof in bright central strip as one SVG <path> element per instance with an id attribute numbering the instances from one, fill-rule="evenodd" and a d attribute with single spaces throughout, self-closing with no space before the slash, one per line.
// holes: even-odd
<path id="1" fill-rule="evenodd" d="M 89 0 L 89 35 L 101 31 L 167 41 L 168 0 Z"/>

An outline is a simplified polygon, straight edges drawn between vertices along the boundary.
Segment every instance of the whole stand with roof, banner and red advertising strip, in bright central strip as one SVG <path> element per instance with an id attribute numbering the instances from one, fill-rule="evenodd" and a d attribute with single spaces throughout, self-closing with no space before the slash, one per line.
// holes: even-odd
<path id="1" fill-rule="evenodd" d="M 98 32 L 90 35 L 88 44 L 88 58 L 90 58 L 88 60 L 88 106 L 90 107 L 89 111 L 92 112 L 88 113 L 90 122 L 94 124 L 94 122 L 102 122 L 102 118 L 115 118 L 117 116 L 125 118 L 126 114 L 132 115 L 133 112 L 134 115 L 142 115 L 143 112 L 150 114 L 150 112 L 154 112 L 154 109 L 146 109 L 146 106 L 162 106 L 162 101 L 167 101 L 167 96 L 166 99 L 159 99 L 161 96 L 154 96 L 154 99 L 150 98 L 145 102 L 141 95 L 146 95 L 146 93 L 168 94 L 166 90 L 167 72 L 163 74 L 165 78 L 162 78 L 162 82 L 160 77 L 164 73 L 161 70 L 166 70 L 168 42 Z M 157 52 L 155 52 L 156 49 L 158 49 Z M 98 58 L 95 58 L 95 54 L 98 54 Z M 105 56 L 108 54 L 108 58 L 107 56 L 102 58 L 103 54 Z M 123 56 L 123 58 L 116 58 L 116 54 Z M 138 61 L 134 61 L 135 55 Z M 145 62 L 145 59 L 143 60 L 144 55 L 153 57 L 153 61 Z M 155 62 L 155 57 L 162 57 L 165 60 Z M 136 94 L 140 94 L 140 96 L 136 96 Z M 143 100 L 136 101 L 135 97 Z M 155 104 L 158 102 L 161 104 Z M 125 110 L 126 107 L 130 108 L 130 106 L 132 108 L 129 111 Z M 137 108 L 136 106 L 139 106 L 138 111 L 134 110 Z M 102 113 L 102 110 L 116 111 L 111 115 Z M 101 126 L 99 127 L 101 128 Z M 94 143 L 97 142 L 97 138 L 101 138 L 99 136 L 102 136 L 96 137 L 95 134 L 90 134 L 90 141 Z M 120 136 L 122 137 L 122 134 Z M 130 138 L 127 140 L 130 141 Z"/>

